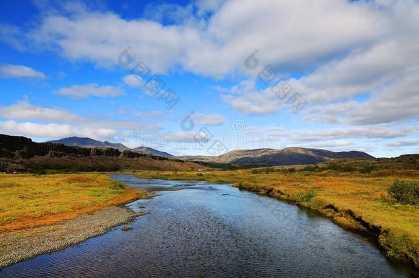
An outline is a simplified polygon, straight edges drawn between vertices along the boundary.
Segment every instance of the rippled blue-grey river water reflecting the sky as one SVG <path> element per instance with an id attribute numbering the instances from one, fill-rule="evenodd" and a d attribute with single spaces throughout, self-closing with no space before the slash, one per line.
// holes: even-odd
<path id="1" fill-rule="evenodd" d="M 150 211 L 5 277 L 405 277 L 378 249 L 317 213 L 230 185 L 118 175 L 133 187 L 177 188 L 129 207 Z"/>

